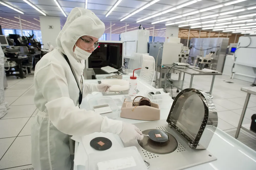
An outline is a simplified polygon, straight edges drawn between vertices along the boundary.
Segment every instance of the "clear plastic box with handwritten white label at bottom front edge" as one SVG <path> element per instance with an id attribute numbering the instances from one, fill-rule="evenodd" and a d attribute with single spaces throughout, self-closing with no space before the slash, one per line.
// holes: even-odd
<path id="1" fill-rule="evenodd" d="M 86 169 L 146 170 L 147 166 L 137 148 L 135 146 L 131 146 L 119 150 L 89 154 L 88 166 Z"/>

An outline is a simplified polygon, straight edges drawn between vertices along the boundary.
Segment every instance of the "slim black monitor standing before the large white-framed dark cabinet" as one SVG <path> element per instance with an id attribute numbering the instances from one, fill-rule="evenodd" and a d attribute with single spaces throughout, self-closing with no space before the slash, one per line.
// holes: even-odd
<path id="1" fill-rule="evenodd" d="M 109 66 L 115 69 L 121 68 L 122 57 L 120 55 L 120 46 L 109 46 Z"/>

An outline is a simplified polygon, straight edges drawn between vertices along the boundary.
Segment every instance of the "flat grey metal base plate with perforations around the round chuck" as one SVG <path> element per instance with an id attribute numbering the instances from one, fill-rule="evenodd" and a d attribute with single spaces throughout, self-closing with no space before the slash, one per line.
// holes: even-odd
<path id="1" fill-rule="evenodd" d="M 170 128 L 166 120 L 135 123 L 134 125 L 137 126 L 141 131 L 145 131 L 147 129 L 164 130 L 170 133 L 177 140 L 177 148 L 173 152 L 167 154 L 157 154 L 153 151 L 150 152 L 149 150 L 145 150 L 139 145 L 138 141 L 125 144 L 126 147 L 137 147 L 142 158 L 149 162 L 149 169 L 179 170 L 217 160 L 217 158 L 206 149 L 190 148 L 188 146 L 188 142 L 173 128 Z"/>

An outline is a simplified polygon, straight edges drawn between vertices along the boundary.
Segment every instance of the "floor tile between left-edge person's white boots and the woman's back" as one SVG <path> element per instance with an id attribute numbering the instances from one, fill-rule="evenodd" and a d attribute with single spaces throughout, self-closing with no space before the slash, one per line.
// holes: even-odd
<path id="1" fill-rule="evenodd" d="M 35 105 L 10 106 L 2 119 L 30 117 L 35 110 Z"/>

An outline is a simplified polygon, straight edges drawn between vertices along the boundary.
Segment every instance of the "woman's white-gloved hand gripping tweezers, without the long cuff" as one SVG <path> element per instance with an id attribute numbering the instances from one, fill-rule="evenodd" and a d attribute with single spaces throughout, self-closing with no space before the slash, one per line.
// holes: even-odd
<path id="1" fill-rule="evenodd" d="M 119 134 L 119 137 L 124 143 L 131 140 L 142 140 L 144 136 L 141 135 L 141 131 L 134 124 L 123 122 L 123 129 Z"/>

